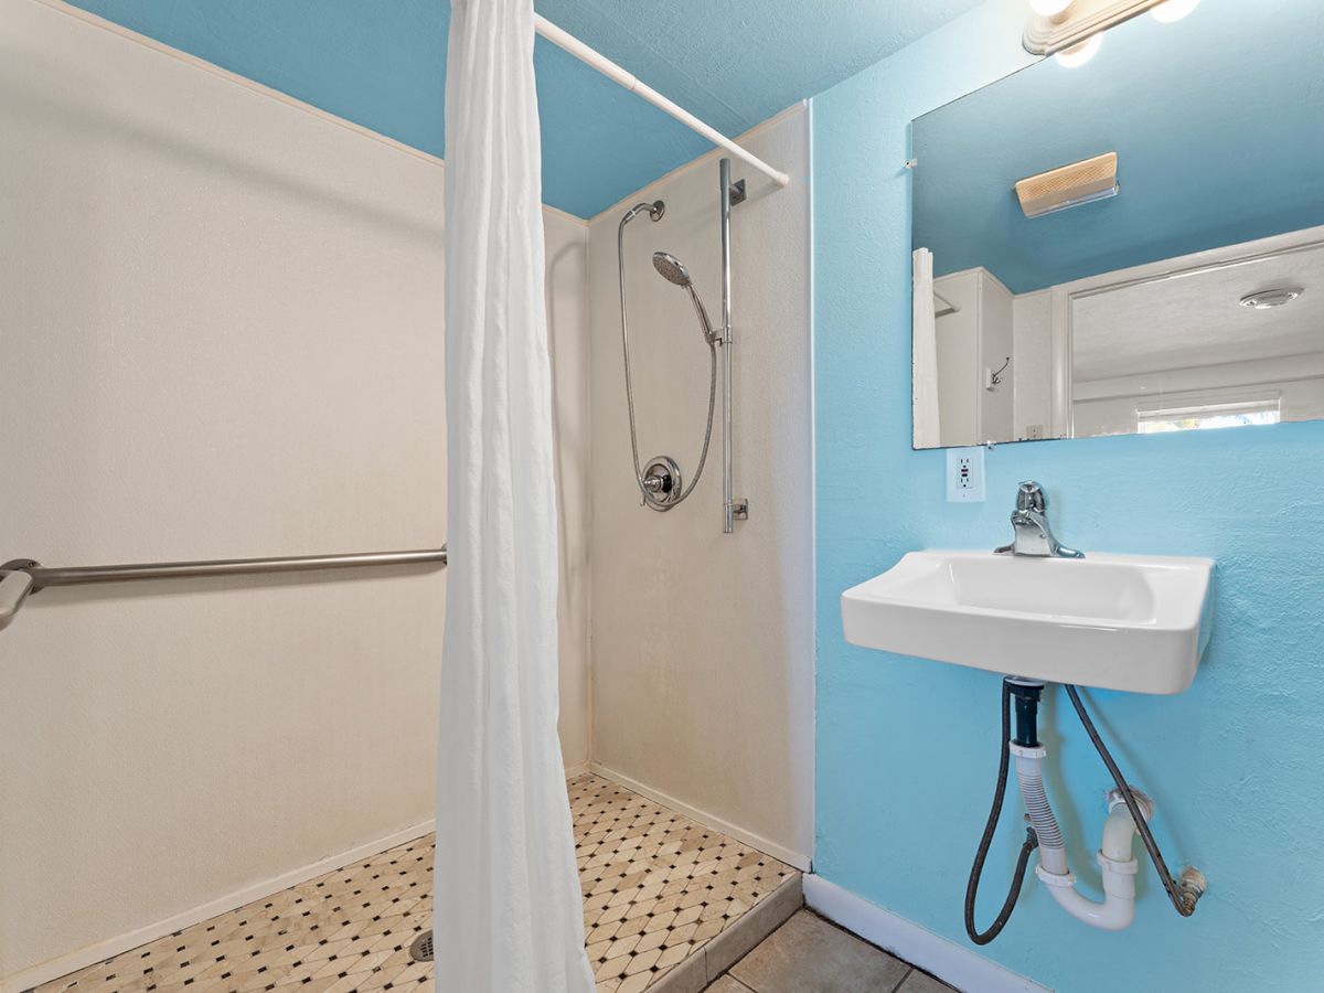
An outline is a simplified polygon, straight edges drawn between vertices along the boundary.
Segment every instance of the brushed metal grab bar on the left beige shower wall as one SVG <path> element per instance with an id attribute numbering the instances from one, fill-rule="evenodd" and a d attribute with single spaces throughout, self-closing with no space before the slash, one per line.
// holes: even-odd
<path id="1" fill-rule="evenodd" d="M 132 565 L 66 565 L 48 568 L 33 559 L 0 565 L 0 630 L 8 628 L 23 602 L 46 587 L 124 583 L 150 579 L 262 576 L 274 572 L 348 569 L 361 565 L 446 564 L 446 545 L 413 552 L 351 552 L 348 555 L 290 555 L 279 559 L 216 559 L 213 561 L 136 563 Z"/>

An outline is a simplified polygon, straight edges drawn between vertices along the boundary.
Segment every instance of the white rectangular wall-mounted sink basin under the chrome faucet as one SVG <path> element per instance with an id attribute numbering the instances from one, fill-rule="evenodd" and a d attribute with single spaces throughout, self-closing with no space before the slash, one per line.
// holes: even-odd
<path id="1" fill-rule="evenodd" d="M 846 641 L 1008 675 L 1181 692 L 1211 626 L 1211 559 L 911 552 L 841 597 Z"/>

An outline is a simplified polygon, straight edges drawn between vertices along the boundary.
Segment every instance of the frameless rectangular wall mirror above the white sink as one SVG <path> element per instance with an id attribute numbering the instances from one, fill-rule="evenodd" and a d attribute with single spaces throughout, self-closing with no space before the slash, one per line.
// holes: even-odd
<path id="1" fill-rule="evenodd" d="M 1324 7 L 1140 16 L 914 122 L 915 448 L 1324 417 Z"/>

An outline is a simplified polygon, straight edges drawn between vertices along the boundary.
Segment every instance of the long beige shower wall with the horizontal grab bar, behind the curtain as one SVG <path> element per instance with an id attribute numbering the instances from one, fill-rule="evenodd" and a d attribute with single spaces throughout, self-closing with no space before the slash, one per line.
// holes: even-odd
<path id="1" fill-rule="evenodd" d="M 437 160 L 36 0 L 0 0 L 0 560 L 445 539 Z M 579 764 L 585 229 L 547 230 Z M 0 634 L 0 977 L 421 830 L 444 592 L 396 569 L 33 597 Z"/>

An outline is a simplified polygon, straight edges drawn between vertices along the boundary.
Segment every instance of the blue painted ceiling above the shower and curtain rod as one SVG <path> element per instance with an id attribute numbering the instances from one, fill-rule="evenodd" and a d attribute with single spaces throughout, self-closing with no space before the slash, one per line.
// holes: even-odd
<path id="1" fill-rule="evenodd" d="M 739 134 L 978 0 L 542 0 L 549 17 L 719 131 Z M 449 0 L 74 0 L 442 155 Z M 548 41 L 535 46 L 543 199 L 592 217 L 711 146 Z"/>

